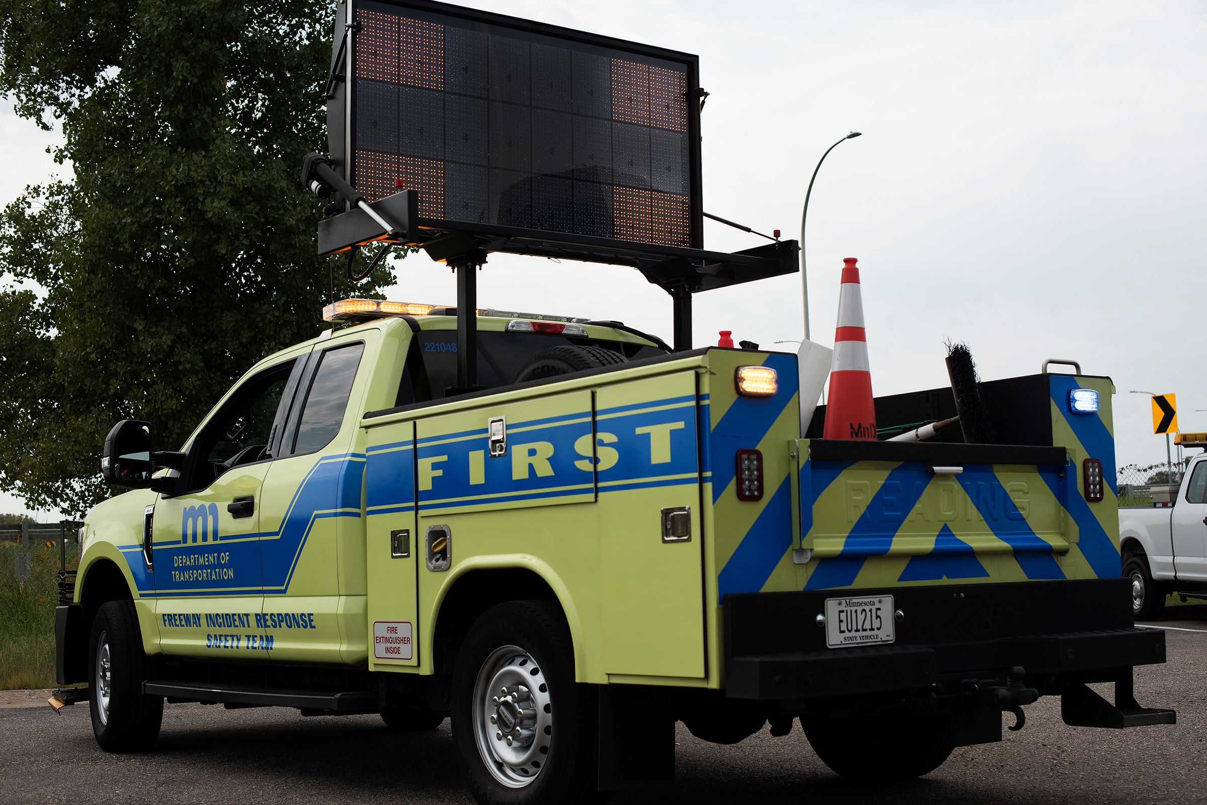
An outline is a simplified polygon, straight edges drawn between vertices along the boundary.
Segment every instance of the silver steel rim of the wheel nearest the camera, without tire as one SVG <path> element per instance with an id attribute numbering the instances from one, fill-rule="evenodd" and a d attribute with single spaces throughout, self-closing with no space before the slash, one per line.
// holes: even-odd
<path id="1" fill-rule="evenodd" d="M 508 788 L 531 786 L 553 744 L 544 670 L 523 648 L 490 652 L 473 686 L 473 734 L 482 762 Z"/>

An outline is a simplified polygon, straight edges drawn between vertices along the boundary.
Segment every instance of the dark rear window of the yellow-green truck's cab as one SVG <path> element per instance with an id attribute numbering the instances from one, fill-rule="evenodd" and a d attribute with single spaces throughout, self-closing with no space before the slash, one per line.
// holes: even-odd
<path id="1" fill-rule="evenodd" d="M 544 333 L 478 333 L 478 386 L 511 386 L 524 364 L 549 347 L 594 346 L 624 354 L 629 360 L 666 354 L 658 347 L 620 341 L 567 337 Z M 402 372 L 396 405 L 426 402 L 448 395 L 456 383 L 456 333 L 431 330 L 415 334 Z"/>

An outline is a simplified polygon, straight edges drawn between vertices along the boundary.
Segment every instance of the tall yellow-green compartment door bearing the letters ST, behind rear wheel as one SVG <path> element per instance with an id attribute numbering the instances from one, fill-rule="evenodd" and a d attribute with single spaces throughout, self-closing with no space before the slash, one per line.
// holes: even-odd
<path id="1" fill-rule="evenodd" d="M 596 392 L 604 670 L 705 675 L 704 540 L 695 372 Z M 686 511 L 686 537 L 664 512 Z M 675 516 L 675 515 L 671 515 Z"/>

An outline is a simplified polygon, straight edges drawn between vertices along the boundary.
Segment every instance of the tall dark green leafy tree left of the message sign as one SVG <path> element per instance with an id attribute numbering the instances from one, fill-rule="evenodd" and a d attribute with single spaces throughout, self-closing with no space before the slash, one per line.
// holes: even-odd
<path id="1" fill-rule="evenodd" d="M 27 0 L 0 12 L 0 92 L 62 127 L 54 158 L 74 171 L 0 217 L 0 488 L 81 513 L 107 494 L 98 459 L 117 419 L 150 421 L 175 449 L 234 378 L 316 335 L 322 304 L 349 294 L 342 265 L 315 253 L 322 202 L 298 184 L 302 157 L 326 147 L 333 11 Z"/>

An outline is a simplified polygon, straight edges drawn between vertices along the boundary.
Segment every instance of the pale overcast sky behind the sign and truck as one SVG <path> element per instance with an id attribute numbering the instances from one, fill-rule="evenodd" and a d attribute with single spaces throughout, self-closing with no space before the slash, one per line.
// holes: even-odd
<path id="1" fill-rule="evenodd" d="M 859 258 L 876 394 L 947 384 L 944 339 L 981 377 L 1073 358 L 1109 375 L 1119 464 L 1165 458 L 1150 402 L 1207 430 L 1193 334 L 1207 254 L 1207 5 L 1124 2 L 477 1 L 696 53 L 705 210 L 797 237 L 809 215 L 812 335 L 833 341 Z M 0 201 L 56 169 L 52 136 L 0 117 Z M 322 147 L 322 143 L 315 143 Z M 301 190 L 299 190 L 301 192 Z M 759 239 L 709 222 L 705 246 Z M 450 272 L 398 264 L 406 301 L 455 301 Z M 494 257 L 479 302 L 617 318 L 670 337 L 670 298 L 631 269 Z M 799 275 L 696 296 L 695 339 L 801 336 Z M 794 351 L 795 345 L 781 345 Z M 0 511 L 21 509 L 0 494 Z"/>

